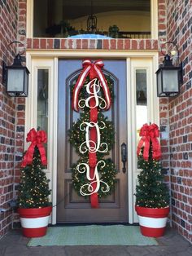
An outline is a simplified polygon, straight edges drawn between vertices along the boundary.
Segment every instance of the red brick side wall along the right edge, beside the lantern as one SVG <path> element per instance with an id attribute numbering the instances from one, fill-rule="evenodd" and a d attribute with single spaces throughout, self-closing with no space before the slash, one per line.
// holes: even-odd
<path id="1" fill-rule="evenodd" d="M 192 2 L 167 1 L 168 41 L 177 43 L 184 66 L 181 94 L 169 99 L 172 221 L 192 241 Z"/>

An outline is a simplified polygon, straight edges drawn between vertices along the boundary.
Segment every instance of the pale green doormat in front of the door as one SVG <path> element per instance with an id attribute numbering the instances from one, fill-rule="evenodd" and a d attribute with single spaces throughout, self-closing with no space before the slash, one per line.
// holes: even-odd
<path id="1" fill-rule="evenodd" d="M 155 238 L 142 236 L 139 227 L 91 225 L 48 227 L 46 236 L 32 238 L 28 246 L 46 245 L 158 245 Z"/>

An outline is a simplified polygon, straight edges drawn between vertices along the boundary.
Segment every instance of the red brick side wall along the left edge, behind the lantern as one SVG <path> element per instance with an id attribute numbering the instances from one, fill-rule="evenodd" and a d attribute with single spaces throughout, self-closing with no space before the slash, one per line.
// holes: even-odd
<path id="1" fill-rule="evenodd" d="M 11 227 L 15 152 L 15 99 L 5 93 L 2 85 L 2 60 L 12 64 L 15 45 L 7 46 L 17 36 L 17 0 L 0 2 L 0 236 Z"/>

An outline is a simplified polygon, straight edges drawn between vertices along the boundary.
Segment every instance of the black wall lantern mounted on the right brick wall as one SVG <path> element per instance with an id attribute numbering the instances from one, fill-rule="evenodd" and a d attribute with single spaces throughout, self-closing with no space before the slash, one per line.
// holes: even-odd
<path id="1" fill-rule="evenodd" d="M 177 58 L 179 62 L 178 47 L 174 42 L 165 42 L 164 44 L 172 44 L 177 50 Z M 164 54 L 164 62 L 156 71 L 157 74 L 157 96 L 172 97 L 180 92 L 180 85 L 183 83 L 182 63 L 174 66 L 172 64 L 171 55 L 175 55 L 176 51 L 172 50 L 170 54 Z"/>

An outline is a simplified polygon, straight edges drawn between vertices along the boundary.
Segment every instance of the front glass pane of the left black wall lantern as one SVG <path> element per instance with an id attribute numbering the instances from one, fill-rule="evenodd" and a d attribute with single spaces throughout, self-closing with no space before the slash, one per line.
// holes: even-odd
<path id="1" fill-rule="evenodd" d="M 21 92 L 24 88 L 24 69 L 7 69 L 7 91 Z"/>

